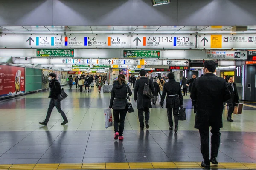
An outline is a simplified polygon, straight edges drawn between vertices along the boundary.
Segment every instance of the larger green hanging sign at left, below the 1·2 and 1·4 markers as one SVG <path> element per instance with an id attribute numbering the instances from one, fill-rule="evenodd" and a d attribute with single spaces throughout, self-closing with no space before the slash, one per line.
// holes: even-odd
<path id="1" fill-rule="evenodd" d="M 74 57 L 73 49 L 37 49 L 37 57 Z"/>

